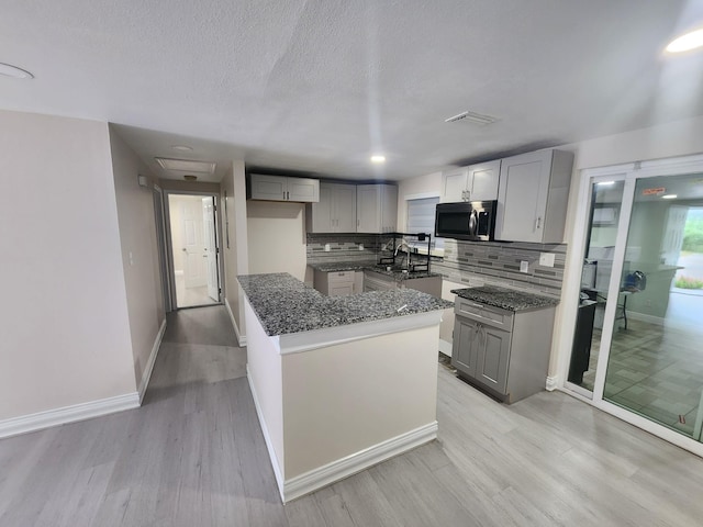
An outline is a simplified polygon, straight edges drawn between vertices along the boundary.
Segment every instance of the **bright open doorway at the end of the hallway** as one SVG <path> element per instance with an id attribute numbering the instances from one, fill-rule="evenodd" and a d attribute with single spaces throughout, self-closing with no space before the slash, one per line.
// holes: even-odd
<path id="1" fill-rule="evenodd" d="M 175 307 L 221 303 L 216 197 L 168 194 Z"/>

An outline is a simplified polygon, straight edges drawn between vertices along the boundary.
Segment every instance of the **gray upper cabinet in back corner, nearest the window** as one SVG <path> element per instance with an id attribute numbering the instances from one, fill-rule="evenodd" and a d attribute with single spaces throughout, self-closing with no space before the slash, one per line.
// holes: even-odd
<path id="1" fill-rule="evenodd" d="M 392 184 L 357 184 L 356 232 L 392 233 L 398 216 L 398 187 Z"/>

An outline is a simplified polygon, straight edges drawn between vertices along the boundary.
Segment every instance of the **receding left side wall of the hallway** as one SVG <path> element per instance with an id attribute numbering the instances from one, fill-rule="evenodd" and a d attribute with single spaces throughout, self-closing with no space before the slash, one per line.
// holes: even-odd
<path id="1" fill-rule="evenodd" d="M 144 389 L 149 357 L 166 319 L 156 237 L 154 177 L 114 130 L 110 130 L 112 170 L 126 287 L 132 355 L 137 386 Z M 149 177 L 140 187 L 137 175 Z M 130 256 L 131 255 L 131 256 Z"/>

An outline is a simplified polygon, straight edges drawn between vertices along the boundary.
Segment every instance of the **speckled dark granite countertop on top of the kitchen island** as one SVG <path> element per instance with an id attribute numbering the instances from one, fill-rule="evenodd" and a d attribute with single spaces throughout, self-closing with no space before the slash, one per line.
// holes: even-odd
<path id="1" fill-rule="evenodd" d="M 454 306 L 451 302 L 413 289 L 325 296 L 287 272 L 244 274 L 237 278 L 269 336 L 427 313 Z"/>

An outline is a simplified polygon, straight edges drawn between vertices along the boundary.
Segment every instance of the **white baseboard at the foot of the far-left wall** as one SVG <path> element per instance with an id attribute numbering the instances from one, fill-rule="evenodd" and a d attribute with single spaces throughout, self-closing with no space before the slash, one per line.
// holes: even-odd
<path id="1" fill-rule="evenodd" d="M 138 392 L 0 421 L 0 438 L 140 407 Z"/>

